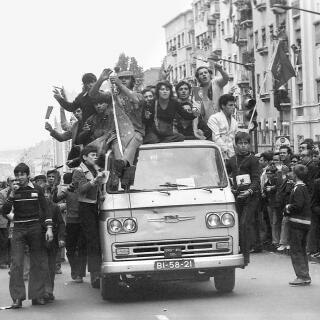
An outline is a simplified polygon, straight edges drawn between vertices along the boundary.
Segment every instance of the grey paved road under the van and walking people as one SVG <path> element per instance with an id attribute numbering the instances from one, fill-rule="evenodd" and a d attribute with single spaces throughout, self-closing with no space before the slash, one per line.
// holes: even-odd
<path id="1" fill-rule="evenodd" d="M 128 293 L 118 302 L 103 301 L 100 292 L 70 281 L 69 268 L 57 276 L 57 300 L 46 306 L 24 302 L 19 310 L 0 311 L 1 320 L 311 320 L 320 318 L 320 264 L 310 264 L 312 285 L 293 288 L 290 259 L 274 253 L 255 254 L 237 270 L 232 294 L 218 294 L 212 281 L 161 283 Z M 0 304 L 10 305 L 7 271 L 0 270 Z"/>

